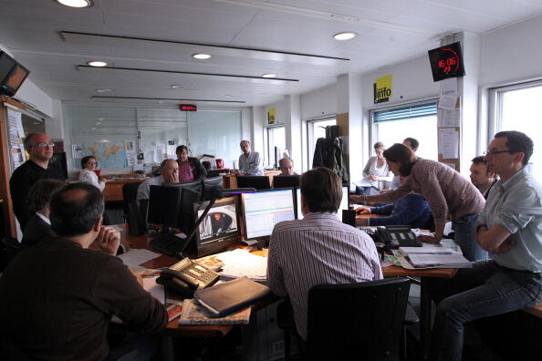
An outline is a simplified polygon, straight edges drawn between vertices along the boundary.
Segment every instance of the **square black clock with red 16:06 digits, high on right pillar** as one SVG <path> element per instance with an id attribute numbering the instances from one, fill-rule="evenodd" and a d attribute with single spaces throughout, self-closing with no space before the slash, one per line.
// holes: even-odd
<path id="1" fill-rule="evenodd" d="M 429 50 L 428 54 L 433 81 L 464 76 L 463 55 L 459 42 Z"/>

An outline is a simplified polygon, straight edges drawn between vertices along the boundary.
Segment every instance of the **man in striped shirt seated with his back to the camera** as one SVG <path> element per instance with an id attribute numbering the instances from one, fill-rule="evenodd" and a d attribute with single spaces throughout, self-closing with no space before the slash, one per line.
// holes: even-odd
<path id="1" fill-rule="evenodd" d="M 374 242 L 337 217 L 342 189 L 327 168 L 301 175 L 304 218 L 277 223 L 267 260 L 267 282 L 287 295 L 294 310 L 297 334 L 307 340 L 307 295 L 317 284 L 352 284 L 382 278 Z"/>

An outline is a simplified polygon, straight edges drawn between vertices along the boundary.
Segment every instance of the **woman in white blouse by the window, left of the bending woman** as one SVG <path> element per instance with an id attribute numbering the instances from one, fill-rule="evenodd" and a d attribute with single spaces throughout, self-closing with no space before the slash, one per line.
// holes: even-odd
<path id="1" fill-rule="evenodd" d="M 363 180 L 365 186 L 359 186 L 356 189 L 357 194 L 379 194 L 380 191 L 387 189 L 393 173 L 388 168 L 388 163 L 384 158 L 384 143 L 377 141 L 374 143 L 374 152 L 376 156 L 370 157 L 363 169 Z"/>

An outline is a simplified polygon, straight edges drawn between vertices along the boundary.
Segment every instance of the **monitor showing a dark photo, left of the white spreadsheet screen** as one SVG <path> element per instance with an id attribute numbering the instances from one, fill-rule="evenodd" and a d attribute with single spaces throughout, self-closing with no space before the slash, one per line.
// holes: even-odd
<path id="1" fill-rule="evenodd" d="M 199 219 L 209 201 L 194 205 Z M 216 200 L 195 232 L 188 253 L 196 257 L 235 248 L 239 243 L 238 197 Z"/>

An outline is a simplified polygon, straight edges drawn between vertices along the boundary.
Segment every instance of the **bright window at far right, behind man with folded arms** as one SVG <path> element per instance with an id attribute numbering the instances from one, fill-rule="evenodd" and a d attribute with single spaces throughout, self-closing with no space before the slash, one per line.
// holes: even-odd
<path id="1" fill-rule="evenodd" d="M 491 90 L 494 119 L 490 122 L 489 139 L 497 131 L 518 130 L 535 143 L 528 168 L 542 180 L 542 82 L 526 83 Z"/>

